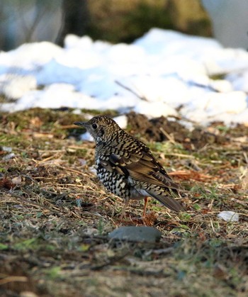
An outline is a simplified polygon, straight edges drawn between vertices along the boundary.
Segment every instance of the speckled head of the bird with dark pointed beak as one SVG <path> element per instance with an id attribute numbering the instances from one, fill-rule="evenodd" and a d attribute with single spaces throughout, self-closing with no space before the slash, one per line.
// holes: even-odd
<path id="1" fill-rule="evenodd" d="M 118 124 L 107 116 L 94 116 L 88 122 L 75 122 L 74 125 L 86 128 L 96 143 L 111 140 L 113 135 L 120 130 Z"/>

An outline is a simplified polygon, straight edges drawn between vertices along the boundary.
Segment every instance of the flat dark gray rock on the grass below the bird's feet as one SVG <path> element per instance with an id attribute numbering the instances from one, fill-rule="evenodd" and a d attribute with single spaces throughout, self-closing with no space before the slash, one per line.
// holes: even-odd
<path id="1" fill-rule="evenodd" d="M 115 240 L 127 240 L 133 242 L 159 242 L 162 232 L 147 226 L 124 226 L 117 228 L 108 234 Z"/>

